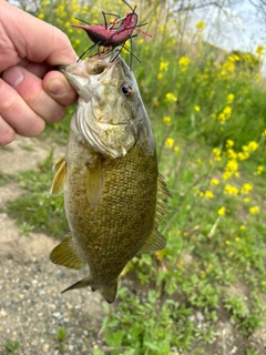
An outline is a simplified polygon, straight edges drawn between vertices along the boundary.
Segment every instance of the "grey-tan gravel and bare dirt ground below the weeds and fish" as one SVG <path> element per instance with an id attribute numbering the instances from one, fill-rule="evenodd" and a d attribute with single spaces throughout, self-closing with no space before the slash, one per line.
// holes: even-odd
<path id="1" fill-rule="evenodd" d="M 32 151 L 24 151 L 23 146 Z M 18 138 L 9 149 L 0 148 L 0 172 L 16 174 L 33 169 L 47 158 L 50 149 L 50 142 Z M 60 156 L 63 149 L 54 149 L 54 156 Z M 8 200 L 21 193 L 14 183 L 0 186 L 0 211 Z M 89 287 L 60 293 L 82 275 L 49 261 L 51 250 L 58 244 L 53 239 L 34 233 L 21 235 L 4 212 L 0 213 L 0 355 L 9 354 L 7 339 L 20 343 L 14 353 L 19 355 L 92 354 L 95 344 L 101 344 L 105 314 L 100 294 L 92 293 Z M 123 284 L 137 287 L 129 278 Z M 196 312 L 192 321 L 198 328 L 208 326 L 201 312 Z M 54 338 L 61 327 L 66 331 L 63 342 Z M 202 348 L 203 344 L 195 343 L 194 349 L 198 347 Z M 221 310 L 216 336 L 204 347 L 204 355 L 265 355 L 266 326 L 247 338 L 234 327 L 228 313 Z M 255 352 L 247 353 L 247 348 Z M 187 353 L 176 349 L 175 355 L 178 354 Z"/>

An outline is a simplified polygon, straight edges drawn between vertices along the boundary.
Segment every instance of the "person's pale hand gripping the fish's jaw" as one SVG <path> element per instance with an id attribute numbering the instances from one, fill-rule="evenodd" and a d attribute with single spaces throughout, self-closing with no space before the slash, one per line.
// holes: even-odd
<path id="1" fill-rule="evenodd" d="M 78 97 L 53 67 L 75 61 L 63 32 L 0 0 L 0 145 L 64 118 Z"/>

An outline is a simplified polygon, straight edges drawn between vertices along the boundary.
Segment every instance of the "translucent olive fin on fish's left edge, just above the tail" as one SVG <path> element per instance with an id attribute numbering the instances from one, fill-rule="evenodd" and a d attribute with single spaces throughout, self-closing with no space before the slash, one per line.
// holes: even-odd
<path id="1" fill-rule="evenodd" d="M 54 264 L 75 270 L 80 270 L 85 265 L 74 247 L 71 234 L 68 234 L 66 239 L 53 248 L 50 260 Z"/>

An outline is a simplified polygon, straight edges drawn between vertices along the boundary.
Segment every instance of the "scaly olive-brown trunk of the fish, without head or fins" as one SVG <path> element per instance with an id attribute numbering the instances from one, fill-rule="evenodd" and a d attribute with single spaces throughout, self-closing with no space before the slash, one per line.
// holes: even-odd
<path id="1" fill-rule="evenodd" d="M 140 145 L 122 158 L 108 159 L 76 142 L 75 161 L 68 162 L 65 212 L 79 254 L 90 267 L 93 288 L 116 280 L 152 234 L 157 164 Z M 100 162 L 99 162 L 100 161 Z M 94 164 L 102 166 L 102 195 L 88 203 L 86 179 Z"/>

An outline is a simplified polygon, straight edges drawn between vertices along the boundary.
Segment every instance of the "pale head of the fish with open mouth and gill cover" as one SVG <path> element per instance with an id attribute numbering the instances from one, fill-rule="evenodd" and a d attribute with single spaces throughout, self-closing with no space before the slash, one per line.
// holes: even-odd
<path id="1" fill-rule="evenodd" d="M 137 143 L 155 144 L 139 88 L 127 64 L 117 57 L 88 58 L 68 65 L 64 74 L 80 99 L 73 129 L 79 139 L 111 158 L 125 155 Z M 150 144 L 144 142 L 149 140 Z"/>

